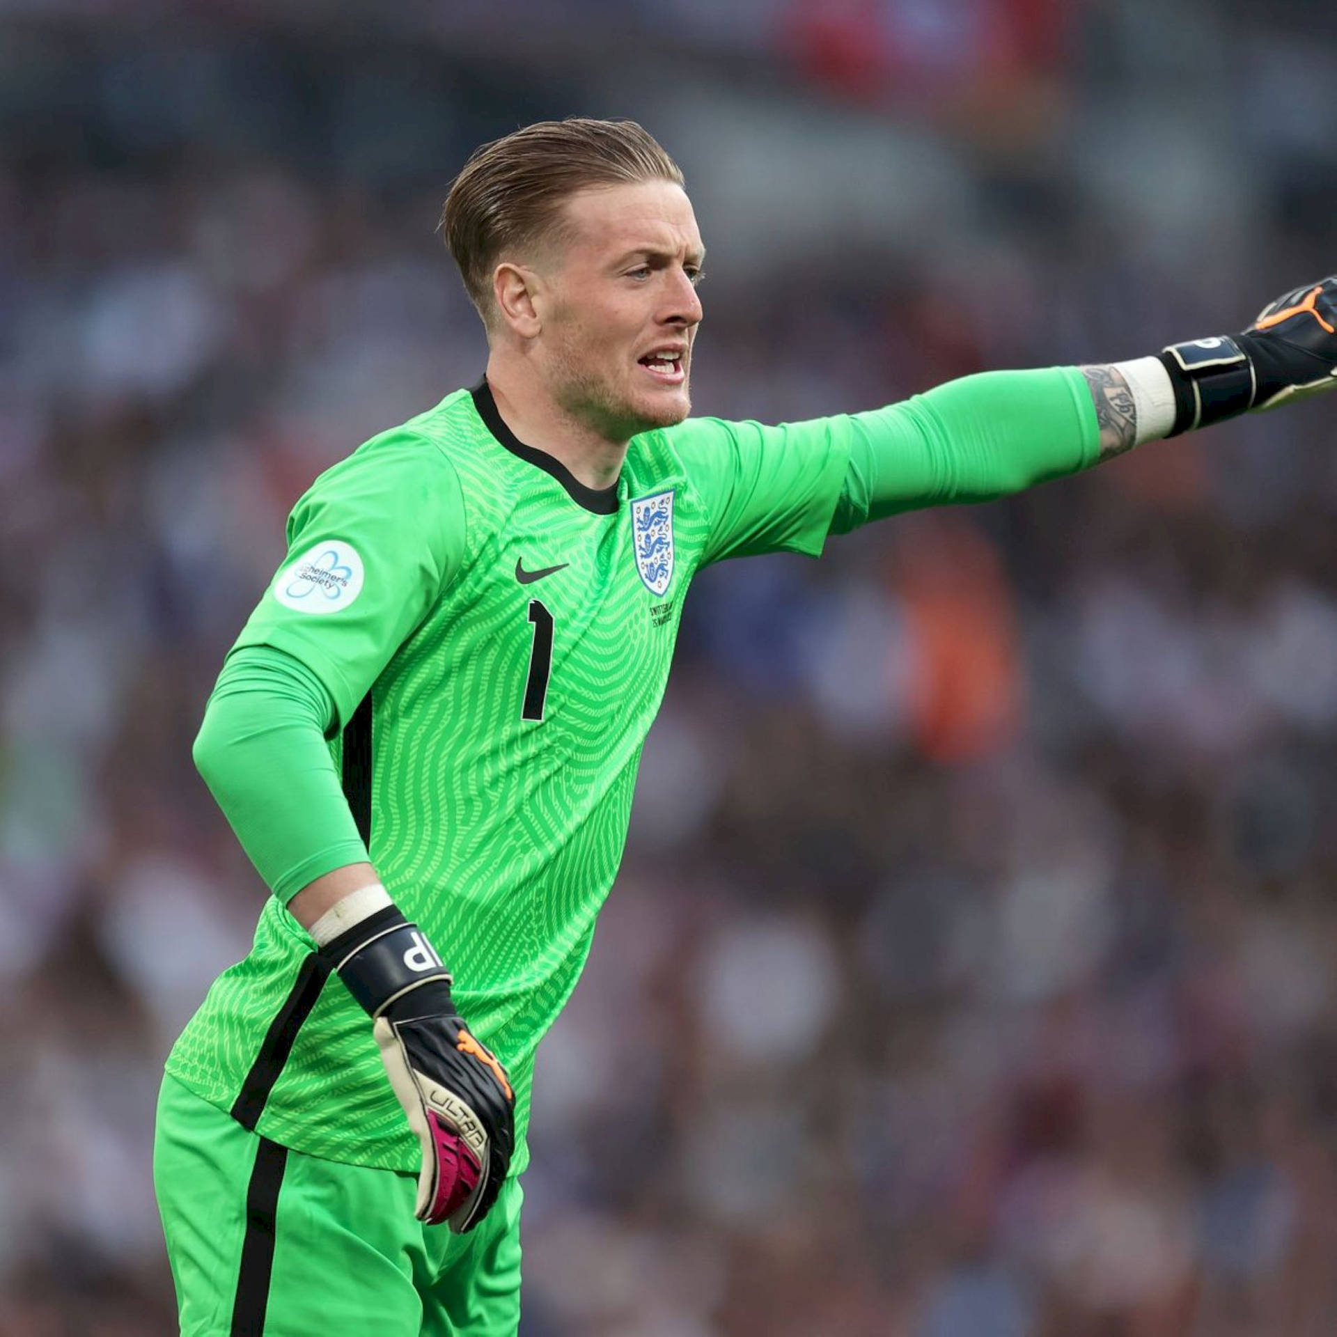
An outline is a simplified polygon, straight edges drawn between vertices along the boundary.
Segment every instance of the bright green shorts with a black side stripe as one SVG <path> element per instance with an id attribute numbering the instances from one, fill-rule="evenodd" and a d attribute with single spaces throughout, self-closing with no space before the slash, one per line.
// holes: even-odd
<path id="1" fill-rule="evenodd" d="M 182 1337 L 501 1337 L 520 1322 L 508 1179 L 467 1235 L 413 1217 L 414 1175 L 303 1155 L 163 1078 L 154 1189 Z"/>

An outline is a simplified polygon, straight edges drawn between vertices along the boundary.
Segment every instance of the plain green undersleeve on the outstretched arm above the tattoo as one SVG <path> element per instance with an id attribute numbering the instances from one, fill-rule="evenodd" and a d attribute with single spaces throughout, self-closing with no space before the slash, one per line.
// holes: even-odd
<path id="1" fill-rule="evenodd" d="M 992 501 L 1099 456 L 1095 405 L 1075 366 L 967 376 L 849 422 L 832 533 L 919 507 Z"/>

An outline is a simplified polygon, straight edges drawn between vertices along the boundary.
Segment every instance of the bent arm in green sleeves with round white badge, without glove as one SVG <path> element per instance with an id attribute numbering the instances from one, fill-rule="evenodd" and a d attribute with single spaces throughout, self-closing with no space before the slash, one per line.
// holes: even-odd
<path id="1" fill-rule="evenodd" d="M 312 484 L 287 544 L 223 664 L 194 757 L 261 877 L 310 929 L 376 885 L 326 739 L 459 570 L 455 468 L 410 428 L 381 433 Z M 334 606 L 310 607 L 303 572 L 334 564 L 350 583 Z"/>

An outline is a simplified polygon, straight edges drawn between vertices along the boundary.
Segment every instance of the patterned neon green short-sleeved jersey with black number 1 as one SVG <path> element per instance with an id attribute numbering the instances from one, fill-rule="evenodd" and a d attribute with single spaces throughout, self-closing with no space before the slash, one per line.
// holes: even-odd
<path id="1" fill-rule="evenodd" d="M 293 655 L 334 698 L 372 862 L 509 1070 L 512 1173 L 691 578 L 734 555 L 818 554 L 853 422 L 691 418 L 635 437 L 595 491 L 516 440 L 484 382 L 366 443 L 291 513 L 287 560 L 237 646 Z M 416 1171 L 366 1016 L 283 908 L 301 885 L 275 888 L 168 1071 L 275 1142 Z"/>

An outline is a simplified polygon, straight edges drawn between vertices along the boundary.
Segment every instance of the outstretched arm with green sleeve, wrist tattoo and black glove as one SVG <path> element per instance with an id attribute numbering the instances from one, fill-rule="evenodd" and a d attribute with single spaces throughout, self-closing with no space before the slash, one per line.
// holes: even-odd
<path id="1" fill-rule="evenodd" d="M 702 562 L 817 556 L 830 533 L 921 507 L 991 501 L 1158 437 L 1337 385 L 1337 277 L 1242 334 L 1158 357 L 984 372 L 868 413 L 668 428 L 710 524 Z"/>

